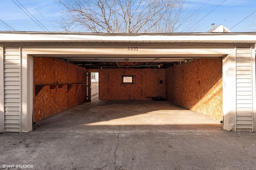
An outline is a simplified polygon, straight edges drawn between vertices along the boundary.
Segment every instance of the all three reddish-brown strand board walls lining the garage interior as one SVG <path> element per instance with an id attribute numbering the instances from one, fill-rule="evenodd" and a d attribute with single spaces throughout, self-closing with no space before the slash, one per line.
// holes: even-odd
<path id="1" fill-rule="evenodd" d="M 165 63 L 166 68 L 161 68 L 159 63 L 148 68 L 141 64 L 140 68 L 122 68 L 121 63 L 116 64 L 119 68 L 108 68 L 105 64 L 96 72 L 56 58 L 35 57 L 33 121 L 38 122 L 86 102 L 88 73 L 92 100 L 138 101 L 161 96 L 177 106 L 218 122 L 222 120 L 222 59 L 194 59 L 186 63 L 173 62 L 172 65 Z M 146 66 L 148 64 L 145 63 Z M 124 77 L 132 77 L 132 82 L 124 82 Z M 36 87 L 42 84 L 47 86 L 43 86 L 38 93 Z"/>

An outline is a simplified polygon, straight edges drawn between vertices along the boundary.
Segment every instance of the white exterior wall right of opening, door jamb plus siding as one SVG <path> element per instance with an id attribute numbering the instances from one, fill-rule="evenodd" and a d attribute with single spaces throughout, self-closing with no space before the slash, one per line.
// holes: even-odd
<path id="1" fill-rule="evenodd" d="M 223 57 L 223 129 L 256 131 L 255 45 Z"/>

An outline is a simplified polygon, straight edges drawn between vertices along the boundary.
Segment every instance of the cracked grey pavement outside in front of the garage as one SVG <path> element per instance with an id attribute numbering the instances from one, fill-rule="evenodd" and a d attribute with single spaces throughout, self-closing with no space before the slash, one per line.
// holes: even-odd
<path id="1" fill-rule="evenodd" d="M 34 167 L 24 170 L 256 169 L 249 132 L 32 131 L 2 134 L 0 143 L 0 165 Z"/>

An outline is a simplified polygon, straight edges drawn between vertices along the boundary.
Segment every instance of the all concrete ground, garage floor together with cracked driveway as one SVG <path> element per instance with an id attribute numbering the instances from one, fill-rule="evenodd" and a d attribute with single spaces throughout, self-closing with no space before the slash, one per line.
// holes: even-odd
<path id="1" fill-rule="evenodd" d="M 255 133 L 224 131 L 169 102 L 93 100 L 0 143 L 0 169 L 256 170 Z"/>

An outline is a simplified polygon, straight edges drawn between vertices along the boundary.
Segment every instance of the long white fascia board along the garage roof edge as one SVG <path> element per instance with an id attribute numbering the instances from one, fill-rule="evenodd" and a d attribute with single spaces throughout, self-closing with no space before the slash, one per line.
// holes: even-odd
<path id="1" fill-rule="evenodd" d="M 106 34 L 66 32 L 0 32 L 0 42 L 256 43 L 256 33 Z"/>

